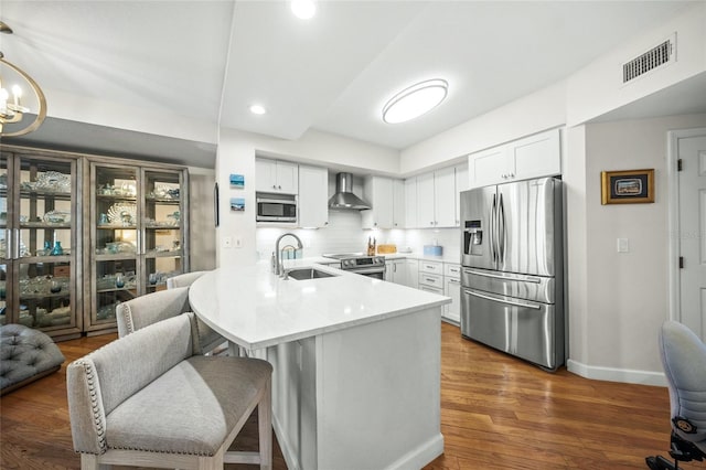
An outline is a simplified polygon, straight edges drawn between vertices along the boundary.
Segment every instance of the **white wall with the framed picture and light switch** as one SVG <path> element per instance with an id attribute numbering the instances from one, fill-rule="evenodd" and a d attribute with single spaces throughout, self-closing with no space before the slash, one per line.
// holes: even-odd
<path id="1" fill-rule="evenodd" d="M 703 126 L 706 115 L 586 126 L 586 196 L 571 194 L 568 210 L 569 231 L 580 229 L 581 218 L 587 227 L 569 232 L 570 370 L 661 383 L 657 331 L 668 318 L 666 132 Z M 601 205 L 601 171 L 643 168 L 655 170 L 654 203 Z M 617 253 L 617 238 L 629 239 L 629 253 Z"/>

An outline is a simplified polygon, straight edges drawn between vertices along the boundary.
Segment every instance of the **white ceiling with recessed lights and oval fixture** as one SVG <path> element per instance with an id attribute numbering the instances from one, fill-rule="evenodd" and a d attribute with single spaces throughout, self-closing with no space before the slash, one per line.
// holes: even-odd
<path id="1" fill-rule="evenodd" d="M 284 139 L 318 129 L 404 149 L 570 75 L 693 3 L 319 1 L 302 21 L 286 1 L 0 0 L 14 30 L 0 51 L 44 88 L 50 116 L 53 95 L 77 96 L 214 129 Z M 450 84 L 442 105 L 407 124 L 381 120 L 392 95 L 432 77 Z M 269 113 L 252 115 L 253 103 Z M 57 119 L 26 140 L 71 146 L 75 126 Z M 100 131 L 81 130 L 108 151 Z M 131 136 L 136 154 L 159 151 L 149 135 Z M 213 158 L 210 143 L 196 146 L 203 158 Z"/>

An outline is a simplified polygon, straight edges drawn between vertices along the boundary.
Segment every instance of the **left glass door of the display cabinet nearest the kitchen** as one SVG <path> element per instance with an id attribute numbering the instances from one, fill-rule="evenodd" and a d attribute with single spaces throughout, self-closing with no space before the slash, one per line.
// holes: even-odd
<path id="1" fill-rule="evenodd" d="M 92 163 L 92 308 L 88 329 L 115 323 L 119 302 L 140 295 L 139 184 L 136 168 Z"/>

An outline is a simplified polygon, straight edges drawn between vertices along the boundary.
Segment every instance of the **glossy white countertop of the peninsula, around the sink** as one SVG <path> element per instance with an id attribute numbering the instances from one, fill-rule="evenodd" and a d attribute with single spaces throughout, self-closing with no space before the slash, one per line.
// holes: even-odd
<path id="1" fill-rule="evenodd" d="M 285 280 L 271 274 L 266 261 L 226 267 L 200 277 L 189 300 L 208 325 L 248 350 L 451 302 L 448 297 L 314 263 L 322 259 L 328 258 L 286 260 L 285 267 L 313 266 L 339 276 Z"/>

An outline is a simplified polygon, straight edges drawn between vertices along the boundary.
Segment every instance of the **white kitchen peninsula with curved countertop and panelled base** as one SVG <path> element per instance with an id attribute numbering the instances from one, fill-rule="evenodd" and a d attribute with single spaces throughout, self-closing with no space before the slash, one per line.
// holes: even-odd
<path id="1" fill-rule="evenodd" d="M 440 316 L 447 297 L 315 264 L 282 279 L 260 263 L 190 290 L 207 324 L 267 359 L 272 425 L 290 469 L 421 468 L 443 452 Z"/>

